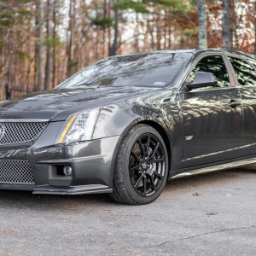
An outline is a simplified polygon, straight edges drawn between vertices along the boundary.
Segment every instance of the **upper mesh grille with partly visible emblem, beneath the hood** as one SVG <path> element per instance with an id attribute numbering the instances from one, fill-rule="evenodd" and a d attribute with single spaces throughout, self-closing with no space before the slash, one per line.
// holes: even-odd
<path id="1" fill-rule="evenodd" d="M 47 122 L 0 121 L 0 145 L 33 141 L 44 131 L 47 124 Z"/>

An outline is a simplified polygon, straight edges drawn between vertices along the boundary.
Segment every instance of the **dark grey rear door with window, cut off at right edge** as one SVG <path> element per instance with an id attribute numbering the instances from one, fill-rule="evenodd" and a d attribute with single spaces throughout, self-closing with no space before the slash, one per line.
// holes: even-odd
<path id="1" fill-rule="evenodd" d="M 233 67 L 236 87 L 243 102 L 244 133 L 241 153 L 244 156 L 256 154 L 256 71 L 253 60 L 250 62 L 246 57 L 238 55 L 228 55 L 228 60 Z"/>

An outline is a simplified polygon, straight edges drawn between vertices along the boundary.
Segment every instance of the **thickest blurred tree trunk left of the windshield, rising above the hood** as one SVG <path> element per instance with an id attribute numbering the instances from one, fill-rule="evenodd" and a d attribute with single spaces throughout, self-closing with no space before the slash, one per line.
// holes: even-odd
<path id="1" fill-rule="evenodd" d="M 41 0 L 36 1 L 36 29 L 37 29 L 37 42 L 36 42 L 36 60 L 37 60 L 37 89 L 44 90 L 43 84 L 43 60 L 42 60 L 42 40 L 43 40 L 43 32 L 42 32 L 42 7 Z"/>

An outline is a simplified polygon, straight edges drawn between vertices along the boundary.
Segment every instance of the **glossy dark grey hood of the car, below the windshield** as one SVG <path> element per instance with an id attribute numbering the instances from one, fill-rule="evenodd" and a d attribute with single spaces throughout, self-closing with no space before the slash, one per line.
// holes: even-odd
<path id="1" fill-rule="evenodd" d="M 150 92 L 159 88 L 150 88 Z M 132 96 L 148 94 L 143 87 L 90 88 L 85 90 L 51 90 L 0 102 L 0 119 L 66 120 L 83 109 L 99 108 Z"/>

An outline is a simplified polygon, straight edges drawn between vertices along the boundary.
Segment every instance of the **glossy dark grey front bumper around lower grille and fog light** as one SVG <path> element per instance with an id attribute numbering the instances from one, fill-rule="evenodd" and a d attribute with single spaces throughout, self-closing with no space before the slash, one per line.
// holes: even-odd
<path id="1" fill-rule="evenodd" d="M 119 136 L 69 146 L 50 145 L 56 131 L 59 131 L 53 127 L 52 132 L 44 132 L 36 143 L 0 147 L 0 161 L 26 160 L 34 180 L 34 183 L 0 183 L 0 189 L 32 190 L 35 194 L 55 195 L 111 193 L 113 158 Z M 71 166 L 72 175 L 60 173 L 63 166 Z"/>

